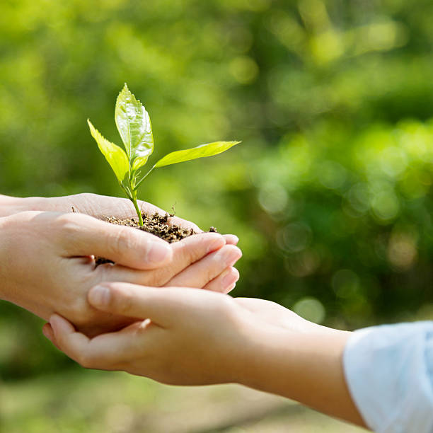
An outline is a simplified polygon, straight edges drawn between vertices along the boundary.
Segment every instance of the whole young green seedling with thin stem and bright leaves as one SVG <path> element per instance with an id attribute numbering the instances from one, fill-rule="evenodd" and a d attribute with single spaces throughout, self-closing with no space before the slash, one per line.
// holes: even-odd
<path id="1" fill-rule="evenodd" d="M 129 200 L 134 204 L 139 217 L 140 226 L 143 225 L 142 212 L 137 204 L 137 190 L 143 180 L 155 168 L 171 164 L 190 161 L 192 159 L 213 156 L 230 149 L 240 142 L 214 142 L 200 144 L 192 149 L 174 151 L 157 161 L 152 168 L 143 173 L 143 168 L 154 151 L 154 136 L 148 112 L 142 103 L 129 91 L 126 83 L 117 96 L 115 108 L 115 122 L 126 152 L 116 144 L 105 139 L 98 130 L 87 120 L 92 137 L 98 143 L 99 150 L 115 172 L 120 186 Z"/>

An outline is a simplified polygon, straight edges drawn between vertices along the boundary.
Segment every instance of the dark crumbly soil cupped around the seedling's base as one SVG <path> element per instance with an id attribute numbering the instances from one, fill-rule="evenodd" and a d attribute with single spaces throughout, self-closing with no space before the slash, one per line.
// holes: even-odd
<path id="1" fill-rule="evenodd" d="M 148 215 L 142 213 L 143 217 L 143 226 L 140 227 L 138 218 L 128 218 L 128 219 L 118 219 L 115 217 L 105 217 L 105 221 L 108 221 L 111 224 L 117 224 L 118 226 L 129 226 L 134 229 L 139 229 L 143 231 L 147 231 L 148 233 L 152 233 L 158 238 L 167 241 L 168 243 L 181 241 L 183 238 L 187 236 L 191 236 L 196 234 L 193 229 L 184 229 L 176 224 L 168 225 L 168 219 L 170 217 L 174 217 L 173 214 L 152 214 Z M 209 231 L 217 232 L 215 227 L 211 227 Z M 107 260 L 102 257 L 95 258 L 96 265 L 102 265 L 103 263 L 112 263 L 111 260 Z"/>

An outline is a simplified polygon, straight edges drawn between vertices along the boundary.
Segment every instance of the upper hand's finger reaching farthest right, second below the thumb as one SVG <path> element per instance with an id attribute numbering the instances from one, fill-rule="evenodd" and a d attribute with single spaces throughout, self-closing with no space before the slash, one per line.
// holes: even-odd
<path id="1" fill-rule="evenodd" d="M 209 281 L 218 277 L 227 267 L 234 265 L 242 256 L 239 248 L 226 245 L 187 267 L 173 277 L 166 286 L 204 287 Z M 221 279 L 220 282 L 224 281 Z M 230 282 L 233 284 L 233 281 Z M 215 287 L 215 286 L 214 286 Z M 219 289 L 218 291 L 222 291 Z"/>

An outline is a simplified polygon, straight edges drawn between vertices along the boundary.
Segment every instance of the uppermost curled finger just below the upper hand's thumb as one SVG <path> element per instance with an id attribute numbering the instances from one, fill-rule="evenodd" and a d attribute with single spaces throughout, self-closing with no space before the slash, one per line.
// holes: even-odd
<path id="1" fill-rule="evenodd" d="M 103 272 L 101 278 L 104 281 L 122 281 L 148 286 L 163 286 L 175 275 L 178 275 L 185 268 L 192 265 L 192 263 L 205 258 L 209 253 L 219 250 L 224 245 L 224 238 L 219 233 L 200 233 L 172 243 L 173 260 L 167 266 L 160 267 L 157 270 L 137 272 L 118 265 L 108 265 L 98 267 L 97 271 Z M 218 264 L 217 262 L 213 262 L 212 265 L 217 266 Z M 217 272 L 217 275 L 219 272 Z M 202 285 L 208 281 L 209 279 L 204 281 Z M 185 279 L 183 279 L 183 282 L 185 283 L 183 284 L 184 286 L 194 287 L 193 284 L 188 284 Z"/>

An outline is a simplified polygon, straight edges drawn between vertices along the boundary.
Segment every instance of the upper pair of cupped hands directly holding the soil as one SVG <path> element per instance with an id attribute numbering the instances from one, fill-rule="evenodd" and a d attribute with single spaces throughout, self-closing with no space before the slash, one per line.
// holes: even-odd
<path id="1" fill-rule="evenodd" d="M 75 213 L 59 213 L 69 212 L 72 206 Z M 223 292 L 234 287 L 239 275 L 233 265 L 242 254 L 229 242 L 236 243 L 236 236 L 198 233 L 168 244 L 150 233 L 94 218 L 104 214 L 128 217 L 130 207 L 125 200 L 96 195 L 1 196 L 0 299 L 45 320 L 57 312 L 77 329 L 97 335 L 132 319 L 97 311 L 88 304 L 86 294 L 95 284 L 194 285 Z M 143 207 L 148 212 L 160 210 L 150 204 L 143 203 Z M 180 219 L 173 222 L 194 226 Z M 93 255 L 115 265 L 96 267 Z"/>

